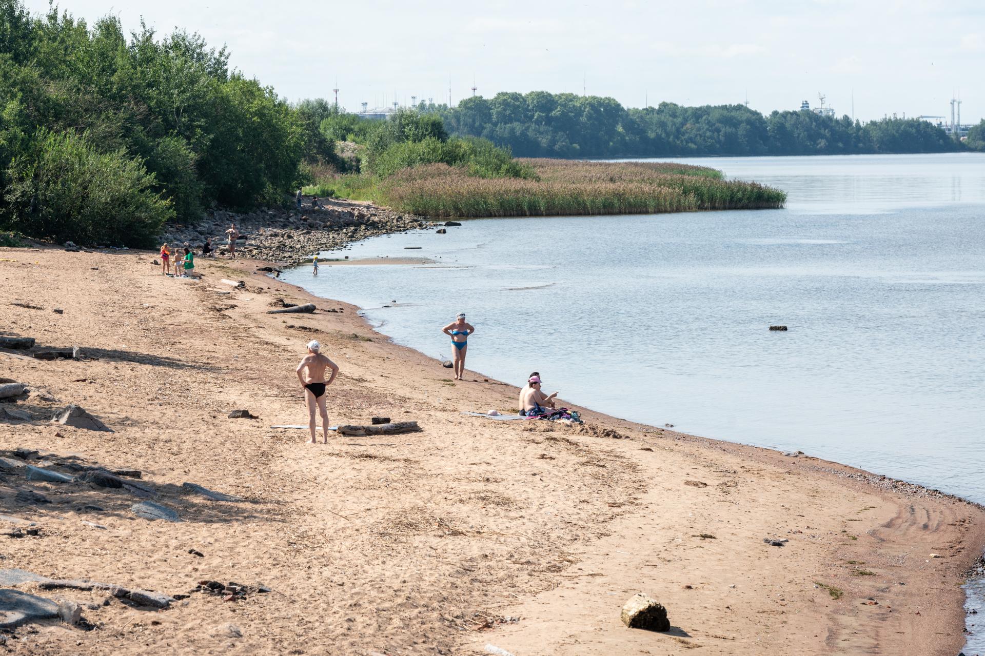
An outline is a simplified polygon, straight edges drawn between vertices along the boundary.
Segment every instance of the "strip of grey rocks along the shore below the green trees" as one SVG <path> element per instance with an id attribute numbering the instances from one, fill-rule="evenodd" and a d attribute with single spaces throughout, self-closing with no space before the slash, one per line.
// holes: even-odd
<path id="1" fill-rule="evenodd" d="M 207 237 L 219 255 L 229 253 L 226 230 L 235 224 L 241 236 L 236 252 L 275 265 L 308 262 L 322 250 L 336 250 L 371 236 L 422 230 L 432 226 L 423 217 L 393 212 L 375 205 L 343 199 L 304 197 L 299 210 L 258 209 L 248 213 L 216 210 L 195 225 L 173 224 L 163 240 L 171 246 L 201 250 Z"/>

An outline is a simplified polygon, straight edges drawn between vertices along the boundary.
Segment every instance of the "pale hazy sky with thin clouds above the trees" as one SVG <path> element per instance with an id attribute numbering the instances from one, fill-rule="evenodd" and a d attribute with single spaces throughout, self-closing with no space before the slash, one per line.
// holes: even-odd
<path id="1" fill-rule="evenodd" d="M 46 0 L 28 0 L 33 11 Z M 332 97 L 359 110 L 412 95 L 453 102 L 499 91 L 682 104 L 742 102 L 768 113 L 812 106 L 838 115 L 985 115 L 982 0 L 663 0 L 606 2 L 256 2 L 62 0 L 92 22 L 141 17 L 226 43 L 231 65 L 286 98 Z"/>

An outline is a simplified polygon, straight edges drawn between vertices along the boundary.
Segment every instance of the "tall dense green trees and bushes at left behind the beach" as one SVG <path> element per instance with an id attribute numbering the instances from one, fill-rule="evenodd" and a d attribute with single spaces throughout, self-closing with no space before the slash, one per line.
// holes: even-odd
<path id="1" fill-rule="evenodd" d="M 216 204 L 283 202 L 334 158 L 309 112 L 197 33 L 0 0 L 0 230 L 148 245 Z"/>

